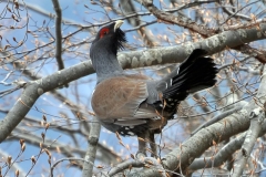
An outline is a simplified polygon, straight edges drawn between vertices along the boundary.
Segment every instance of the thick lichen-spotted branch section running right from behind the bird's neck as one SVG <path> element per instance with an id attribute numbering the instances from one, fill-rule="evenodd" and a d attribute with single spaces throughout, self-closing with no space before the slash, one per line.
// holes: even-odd
<path id="1" fill-rule="evenodd" d="M 244 43 L 265 39 L 265 31 L 266 23 L 262 23 L 259 29 L 253 28 L 225 31 L 200 42 L 187 42 L 184 45 L 123 52 L 119 53 L 119 59 L 124 69 L 165 63 L 180 63 L 193 51 L 193 49 L 205 49 L 209 54 L 214 54 L 228 48 L 236 48 Z"/>

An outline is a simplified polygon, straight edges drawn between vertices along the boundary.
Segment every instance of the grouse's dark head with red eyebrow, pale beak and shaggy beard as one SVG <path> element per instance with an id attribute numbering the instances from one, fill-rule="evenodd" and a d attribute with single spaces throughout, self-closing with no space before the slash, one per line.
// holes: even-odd
<path id="1" fill-rule="evenodd" d="M 123 49 L 123 42 L 126 42 L 125 33 L 120 29 L 122 20 L 117 20 L 109 25 L 101 28 L 95 40 L 91 45 L 91 56 L 94 52 L 105 52 L 115 54 Z M 111 53 L 110 53 L 111 52 Z"/>

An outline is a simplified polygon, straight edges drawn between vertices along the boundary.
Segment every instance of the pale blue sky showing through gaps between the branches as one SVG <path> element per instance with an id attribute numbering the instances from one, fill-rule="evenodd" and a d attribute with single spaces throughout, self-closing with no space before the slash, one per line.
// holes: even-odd
<path id="1" fill-rule="evenodd" d="M 27 0 L 24 1 L 27 4 L 32 6 L 37 9 L 40 9 L 44 12 L 48 13 L 54 13 L 53 10 L 53 6 L 52 6 L 52 1 L 49 0 Z M 98 12 L 91 12 L 91 10 L 89 8 L 96 10 Z M 75 24 L 82 24 L 82 25 L 90 25 L 90 23 L 95 22 L 96 20 L 102 20 L 102 21 L 106 21 L 106 17 L 102 13 L 102 9 L 99 8 L 98 6 L 93 6 L 90 3 L 90 1 L 85 1 L 85 0 L 61 0 L 60 1 L 60 6 L 62 9 L 62 17 L 64 20 L 68 20 L 70 22 L 73 22 Z M 117 6 L 117 4 L 116 4 Z M 4 2 L 0 3 L 0 10 L 3 9 L 6 7 Z M 141 7 L 139 7 L 141 9 Z M 143 8 L 142 8 L 143 9 Z M 54 34 L 54 21 L 53 19 L 49 18 L 49 17 L 44 17 L 40 13 L 37 13 L 35 11 L 30 10 L 29 8 L 29 25 L 28 29 L 23 28 L 21 30 L 16 30 L 16 31 L 8 31 L 8 30 L 0 30 L 0 35 L 2 35 L 4 38 L 4 40 L 9 40 L 12 44 L 16 44 L 16 42 L 13 41 L 13 38 L 17 39 L 17 41 L 21 41 L 24 39 L 25 37 L 25 31 L 34 31 L 34 30 L 43 30 L 43 29 L 38 29 L 37 27 L 49 27 L 50 31 L 52 34 Z M 193 12 L 190 13 L 191 15 L 193 15 Z M 21 11 L 21 15 L 25 15 L 25 11 Z M 116 17 L 114 13 L 109 12 L 110 18 L 114 18 Z M 146 21 L 152 21 L 154 20 L 154 17 L 145 17 L 144 18 Z M 25 20 L 25 19 L 24 19 Z M 1 21 L 0 24 L 7 24 L 10 21 L 6 20 L 6 21 Z M 176 25 L 168 25 L 168 24 L 156 24 L 156 27 L 151 25 L 150 28 L 152 29 L 152 32 L 154 35 L 161 34 L 162 38 L 168 33 L 168 27 L 172 30 L 176 31 L 176 34 L 181 34 L 183 32 L 182 28 L 178 28 Z M 122 30 L 125 29 L 131 29 L 132 27 L 125 22 L 122 25 Z M 73 32 L 76 30 L 76 27 L 73 25 L 68 25 L 64 24 L 62 25 L 62 34 L 63 37 L 68 35 L 69 33 Z M 98 30 L 98 28 L 94 29 L 95 31 Z M 37 32 L 38 33 L 38 32 Z M 18 50 L 16 50 L 16 52 L 20 52 L 21 50 L 31 50 L 33 48 L 35 48 L 38 41 L 35 41 L 35 39 L 32 37 L 32 34 L 28 33 L 28 39 L 25 41 L 25 43 L 19 48 Z M 142 44 L 140 43 L 140 41 L 137 40 L 139 34 L 133 31 L 133 32 L 129 32 L 126 33 L 127 37 L 127 41 L 129 43 L 133 43 L 136 49 L 145 49 L 145 46 L 142 46 Z M 40 43 L 42 44 L 42 42 L 49 42 L 49 38 L 40 35 Z M 7 41 L 2 40 L 2 45 L 7 44 Z M 79 34 L 75 35 L 75 42 L 79 41 L 86 41 L 88 43 L 91 42 L 93 40 L 93 37 L 86 31 L 82 31 Z M 171 43 L 164 41 L 162 42 L 161 45 L 170 45 Z M 174 43 L 172 43 L 174 44 Z M 83 53 L 83 55 L 76 55 L 73 51 L 73 54 L 64 54 L 63 59 L 64 59 L 64 63 L 65 63 L 65 67 L 69 67 L 73 64 L 78 64 L 82 61 L 89 60 L 89 49 L 90 49 L 90 44 L 84 44 L 82 46 L 82 49 L 80 49 Z M 34 51 L 32 53 L 30 53 L 32 55 L 40 55 L 40 51 Z M 20 54 L 18 54 L 20 55 Z M 33 64 L 25 64 L 25 69 L 32 71 L 34 74 L 39 74 L 39 75 L 49 75 L 53 72 L 55 72 L 57 69 L 57 64 L 55 64 L 55 60 L 53 58 L 49 58 L 49 56 L 43 56 L 44 63 L 42 63 L 42 61 L 40 62 L 35 62 Z M 8 62 L 8 61 L 7 61 Z M 12 64 L 7 64 L 6 65 L 9 70 L 0 70 L 0 81 L 2 81 L 8 73 L 10 73 L 10 71 L 13 70 L 13 65 Z M 147 70 L 142 70 L 143 73 L 150 75 L 150 76 L 154 76 L 153 75 L 153 69 L 147 69 Z M 11 76 L 7 80 L 8 83 L 12 83 L 13 80 L 23 80 L 23 81 L 28 81 L 27 77 L 24 77 L 21 72 L 13 72 L 11 73 Z M 76 101 L 73 93 L 75 92 L 75 82 L 79 83 L 79 87 L 76 88 L 78 92 L 81 94 L 80 100 Z M 84 105 L 89 111 L 91 111 L 91 106 L 90 106 L 90 97 L 92 94 L 92 91 L 94 88 L 95 85 L 95 74 L 91 74 L 89 76 L 85 76 L 79 81 L 75 81 L 70 83 L 70 87 L 69 88 L 60 88 L 57 90 L 60 93 L 62 93 L 63 95 L 65 95 L 66 97 L 69 97 L 70 100 L 72 100 L 73 102 L 79 102 L 82 103 L 82 105 Z M 4 91 L 8 88 L 13 87 L 13 85 L 2 85 L 0 84 L 0 91 Z M 9 110 L 12 107 L 16 98 L 21 94 L 22 90 L 19 90 L 14 93 L 12 93 L 12 96 L 7 95 L 2 98 L 0 98 L 0 106 L 4 110 Z M 50 93 L 45 93 L 44 95 L 42 95 L 35 103 L 34 107 L 32 107 L 32 110 L 29 112 L 29 116 L 37 118 L 37 119 L 41 119 L 43 114 L 45 114 L 48 122 L 61 122 L 60 124 L 63 126 L 69 126 L 66 124 L 66 122 L 62 118 L 61 113 L 60 112 L 64 112 L 64 114 L 66 114 L 68 116 L 70 116 L 71 119 L 71 125 L 73 126 L 73 128 L 76 128 L 78 125 L 76 123 L 79 123 L 79 121 L 72 116 L 71 111 L 69 110 L 68 106 L 65 106 L 64 103 L 59 102 L 58 100 L 54 100 L 53 96 Z M 88 115 L 89 116 L 89 115 Z M 4 114 L 0 113 L 0 119 L 2 119 L 4 117 Z M 60 118 L 59 118 L 60 117 Z M 44 132 L 44 128 L 40 128 L 40 127 L 30 127 L 28 125 L 24 124 L 20 124 L 20 126 L 22 128 L 24 128 L 25 131 L 30 131 L 31 133 L 35 134 L 35 135 L 41 135 L 42 132 Z M 28 129 L 29 128 L 29 129 Z M 178 133 L 178 132 L 183 132 L 184 129 L 182 129 L 182 126 L 177 125 L 176 129 L 172 129 L 170 131 L 170 133 Z M 16 133 L 13 134 L 13 136 L 16 136 Z M 65 144 L 65 146 L 71 145 L 74 146 L 74 143 L 69 138 L 69 136 L 62 135 L 60 134 L 60 132 L 54 131 L 52 128 L 49 128 L 47 132 L 47 137 L 49 137 L 50 139 L 58 139 L 59 142 L 63 142 Z M 123 143 L 126 144 L 131 144 L 132 148 L 130 150 L 127 150 L 126 148 L 122 147 L 119 145 L 119 140 L 117 138 L 115 138 L 115 135 L 110 133 L 106 129 L 102 129 L 101 136 L 100 136 L 100 142 L 102 144 L 105 144 L 106 146 L 109 146 L 110 148 L 113 148 L 115 152 L 121 153 L 121 154 L 126 154 L 130 155 L 131 153 L 134 154 L 134 152 L 136 152 L 136 138 L 135 137 L 122 137 L 123 138 Z M 183 142 L 186 137 L 182 136 L 180 139 L 177 139 L 176 142 Z M 88 143 L 86 139 L 81 137 L 79 139 L 79 147 L 86 149 L 88 147 Z M 19 142 L 7 142 L 7 143 L 2 143 L 0 144 L 0 149 L 4 150 L 7 154 L 12 155 L 13 158 L 16 158 L 16 155 L 19 154 L 20 150 L 20 145 Z M 22 162 L 18 163 L 20 165 L 20 167 L 24 170 L 28 171 L 31 167 L 31 160 L 30 158 L 33 155 L 38 155 L 39 154 L 40 148 L 37 148 L 34 146 L 31 145 L 27 145 L 27 149 L 23 153 L 23 155 L 21 157 L 19 157 L 19 159 L 21 159 Z M 60 156 L 59 154 L 53 154 L 53 159 L 52 162 L 57 162 L 58 159 L 62 158 L 62 156 Z M 47 168 L 47 160 L 48 157 L 45 155 L 41 155 L 40 159 L 38 160 L 38 165 L 41 166 L 41 168 L 38 168 L 35 170 L 34 168 L 34 173 L 31 174 L 31 177 L 38 177 L 41 174 L 45 174 L 48 173 L 45 170 Z M 100 163 L 100 162 L 96 162 Z M 0 164 L 1 166 L 2 164 Z M 66 163 L 62 163 L 61 165 L 59 165 L 57 167 L 55 174 L 63 174 L 64 176 L 69 177 L 69 176 L 80 176 L 80 171 L 76 170 L 76 168 L 66 168 L 65 166 L 68 165 Z M 13 174 L 10 173 L 10 176 L 13 176 Z M 44 175 L 47 176 L 47 175 Z"/>

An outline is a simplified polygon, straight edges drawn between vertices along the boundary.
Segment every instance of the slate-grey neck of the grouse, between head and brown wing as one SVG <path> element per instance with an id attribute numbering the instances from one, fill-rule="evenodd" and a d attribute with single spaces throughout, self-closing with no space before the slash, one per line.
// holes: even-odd
<path id="1" fill-rule="evenodd" d="M 123 69 L 114 53 L 105 54 L 103 51 L 98 52 L 96 56 L 92 55 L 92 65 L 96 71 L 98 82 L 110 76 L 123 74 Z"/>

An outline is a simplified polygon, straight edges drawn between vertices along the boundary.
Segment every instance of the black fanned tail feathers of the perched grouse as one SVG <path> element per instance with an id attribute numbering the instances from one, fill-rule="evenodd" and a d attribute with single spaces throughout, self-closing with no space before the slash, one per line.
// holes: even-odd
<path id="1" fill-rule="evenodd" d="M 204 58 L 207 51 L 196 49 L 180 65 L 177 75 L 171 79 L 171 86 L 163 91 L 165 108 L 176 108 L 177 104 L 185 100 L 190 93 L 194 93 L 216 83 L 215 76 L 218 70 L 212 58 Z"/>

